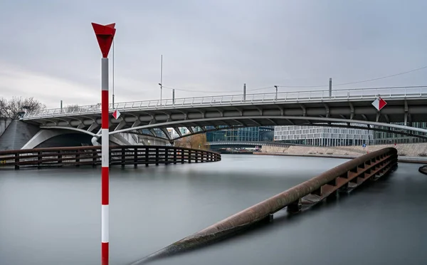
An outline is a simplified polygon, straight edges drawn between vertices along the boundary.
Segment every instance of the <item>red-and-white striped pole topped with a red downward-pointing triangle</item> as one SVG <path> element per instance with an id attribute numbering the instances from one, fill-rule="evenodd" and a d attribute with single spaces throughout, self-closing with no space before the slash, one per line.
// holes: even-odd
<path id="1" fill-rule="evenodd" d="M 102 128 L 102 169 L 101 169 L 101 264 L 108 265 L 108 234 L 109 234 L 109 103 L 108 103 L 108 52 L 115 36 L 115 24 L 92 24 L 93 31 L 100 45 L 101 59 L 101 128 Z"/>

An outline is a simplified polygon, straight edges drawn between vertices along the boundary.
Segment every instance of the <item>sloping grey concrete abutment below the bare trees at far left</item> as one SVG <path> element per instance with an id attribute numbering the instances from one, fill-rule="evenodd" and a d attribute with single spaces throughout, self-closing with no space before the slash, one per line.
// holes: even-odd
<path id="1" fill-rule="evenodd" d="M 40 130 L 38 126 L 11 120 L 4 133 L 0 135 L 0 150 L 21 149 Z"/>

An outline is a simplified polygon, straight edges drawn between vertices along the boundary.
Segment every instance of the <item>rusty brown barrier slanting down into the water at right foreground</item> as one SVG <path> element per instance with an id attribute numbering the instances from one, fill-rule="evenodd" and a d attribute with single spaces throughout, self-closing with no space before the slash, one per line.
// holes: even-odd
<path id="1" fill-rule="evenodd" d="M 285 207 L 288 207 L 289 212 L 299 212 L 303 208 L 322 202 L 326 197 L 335 196 L 338 189 L 349 191 L 362 185 L 366 180 L 377 180 L 396 167 L 397 150 L 395 148 L 388 147 L 362 155 L 270 199 L 265 199 L 196 234 L 176 241 L 154 254 L 135 261 L 132 265 L 144 264 L 162 256 L 171 256 L 221 240 L 254 224 L 269 221 L 273 218 L 272 214 Z"/>

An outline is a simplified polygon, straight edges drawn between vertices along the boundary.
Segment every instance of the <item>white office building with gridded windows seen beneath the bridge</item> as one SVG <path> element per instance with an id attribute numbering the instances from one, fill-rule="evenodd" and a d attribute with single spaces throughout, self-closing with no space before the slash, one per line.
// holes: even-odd
<path id="1" fill-rule="evenodd" d="M 274 140 L 315 146 L 368 145 L 374 140 L 374 132 L 325 126 L 276 126 Z"/>

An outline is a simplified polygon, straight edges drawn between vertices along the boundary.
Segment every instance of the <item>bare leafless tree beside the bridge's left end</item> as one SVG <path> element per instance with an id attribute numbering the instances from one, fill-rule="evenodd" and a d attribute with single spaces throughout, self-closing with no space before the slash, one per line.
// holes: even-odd
<path id="1" fill-rule="evenodd" d="M 43 110 L 46 105 L 34 98 L 13 97 L 10 100 L 0 98 L 0 118 L 19 118 L 21 113 Z"/>

